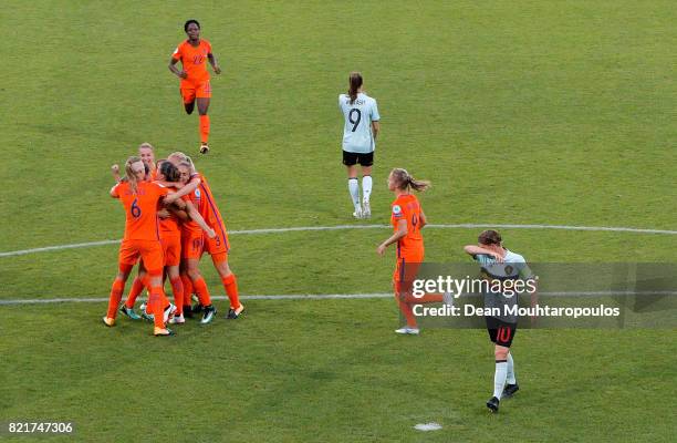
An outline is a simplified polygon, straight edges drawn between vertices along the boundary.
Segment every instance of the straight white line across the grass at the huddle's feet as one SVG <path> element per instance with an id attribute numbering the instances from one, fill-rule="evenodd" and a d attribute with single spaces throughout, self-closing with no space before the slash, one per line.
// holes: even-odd
<path id="1" fill-rule="evenodd" d="M 555 291 L 539 292 L 546 297 L 608 297 L 608 296 L 677 296 L 677 291 Z M 242 300 L 371 300 L 378 298 L 392 298 L 393 293 L 292 293 L 279 296 L 240 296 Z M 477 295 L 464 295 L 464 298 L 477 297 Z M 139 297 L 139 299 L 144 299 Z M 213 300 L 227 300 L 226 296 L 212 296 Z M 88 298 L 46 298 L 25 300 L 0 300 L 0 306 L 9 305 L 50 305 L 50 303 L 103 303 L 108 302 L 107 297 Z"/>

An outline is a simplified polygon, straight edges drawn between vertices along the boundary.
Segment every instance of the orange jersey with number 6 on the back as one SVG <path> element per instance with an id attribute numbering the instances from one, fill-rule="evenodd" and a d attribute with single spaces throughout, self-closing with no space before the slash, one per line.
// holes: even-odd
<path id="1" fill-rule="evenodd" d="M 159 240 L 157 206 L 169 189 L 153 182 L 136 184 L 136 193 L 128 182 L 121 182 L 113 188 L 114 195 L 125 207 L 124 240 Z"/>

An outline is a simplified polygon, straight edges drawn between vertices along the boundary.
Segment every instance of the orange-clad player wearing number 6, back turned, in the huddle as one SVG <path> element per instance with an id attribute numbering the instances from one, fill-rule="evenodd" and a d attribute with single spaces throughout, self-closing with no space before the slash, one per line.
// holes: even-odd
<path id="1" fill-rule="evenodd" d="M 167 195 L 168 189 L 157 183 L 144 181 L 146 168 L 139 157 L 127 158 L 125 172 L 126 179 L 111 189 L 111 196 L 119 199 L 125 208 L 126 224 L 119 246 L 118 272 L 111 289 L 108 311 L 103 321 L 108 327 L 115 324 L 125 282 L 140 257 L 149 276 L 148 305 L 155 316 L 154 334 L 170 336 L 173 332 L 165 328 L 165 310 L 170 308 L 170 303 L 163 289 L 163 247 L 157 220 L 158 203 Z"/>

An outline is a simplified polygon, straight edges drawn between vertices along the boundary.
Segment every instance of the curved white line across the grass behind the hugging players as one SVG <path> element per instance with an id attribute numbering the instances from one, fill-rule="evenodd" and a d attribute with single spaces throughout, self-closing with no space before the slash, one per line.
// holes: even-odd
<path id="1" fill-rule="evenodd" d="M 337 226 L 300 226 L 289 228 L 267 228 L 267 229 L 244 229 L 244 230 L 231 230 L 229 235 L 257 235 L 257 234 L 278 234 L 278 233 L 304 233 L 313 230 L 342 230 L 342 229 L 384 229 L 389 228 L 390 225 L 337 225 Z M 437 229 L 477 229 L 477 228 L 499 228 L 499 229 L 560 229 L 560 230 L 587 230 L 587 231 L 607 231 L 607 233 L 634 233 L 634 234 L 663 234 L 663 235 L 677 235 L 677 230 L 669 229 L 643 229 L 643 228 L 624 228 L 624 227 L 607 227 L 607 226 L 569 226 L 569 225 L 506 225 L 506 224 L 446 224 L 436 225 L 430 224 L 426 226 L 429 228 Z M 90 248 L 93 246 L 105 246 L 116 245 L 121 240 L 101 240 L 101 241 L 88 241 L 88 243 L 76 243 L 72 245 L 56 245 L 45 246 L 42 248 L 32 249 L 20 249 L 10 250 L 7 253 L 0 253 L 1 257 L 15 257 L 28 254 L 46 253 L 51 250 L 63 250 L 63 249 L 76 249 L 76 248 Z"/>

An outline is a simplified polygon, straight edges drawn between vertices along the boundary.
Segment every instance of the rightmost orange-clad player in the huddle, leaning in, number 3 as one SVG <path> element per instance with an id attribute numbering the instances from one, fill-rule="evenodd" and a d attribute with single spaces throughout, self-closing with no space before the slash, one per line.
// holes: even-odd
<path id="1" fill-rule="evenodd" d="M 199 262 L 199 257 L 201 257 L 202 251 L 207 251 L 211 256 L 211 261 L 213 266 L 219 272 L 221 277 L 221 284 L 223 285 L 223 289 L 228 295 L 228 299 L 230 301 L 230 308 L 228 310 L 227 318 L 237 319 L 242 311 L 244 310 L 244 306 L 240 302 L 239 292 L 238 292 L 238 281 L 236 275 L 232 274 L 230 266 L 228 265 L 228 251 L 230 249 L 230 244 L 228 241 L 228 233 L 226 230 L 226 225 L 223 223 L 223 217 L 219 212 L 219 208 L 216 204 L 216 199 L 211 194 L 211 189 L 207 179 L 204 175 L 197 173 L 195 171 L 195 166 L 192 165 L 192 161 L 190 157 L 183 153 L 173 153 L 169 155 L 170 162 L 178 162 L 179 164 L 188 164 L 191 168 L 191 177 L 187 185 L 181 188 L 175 195 L 169 196 L 169 202 L 176 199 L 177 196 L 181 194 L 192 192 L 197 195 L 198 199 L 196 204 L 198 206 L 199 213 L 202 215 L 207 225 L 209 225 L 216 231 L 216 237 L 213 238 L 205 238 L 202 243 L 202 250 L 199 256 L 197 253 L 196 257 L 189 257 L 190 259 L 187 261 L 186 270 L 188 272 L 196 272 L 197 265 Z M 180 167 L 179 167 L 180 169 Z M 199 296 L 199 295 L 198 295 Z M 204 305 L 200 302 L 200 305 Z"/>

